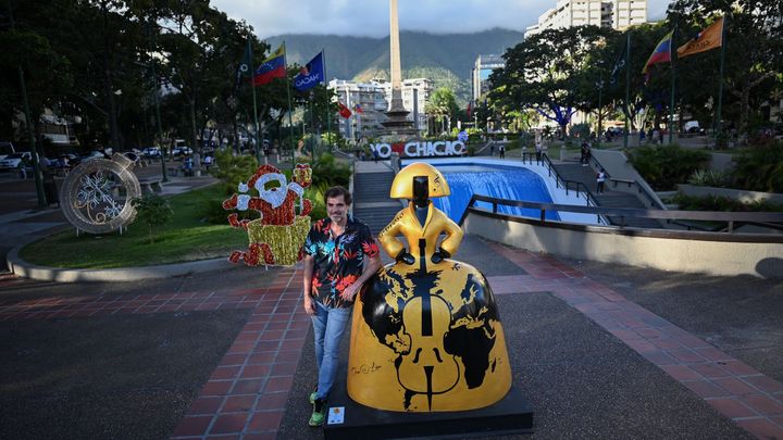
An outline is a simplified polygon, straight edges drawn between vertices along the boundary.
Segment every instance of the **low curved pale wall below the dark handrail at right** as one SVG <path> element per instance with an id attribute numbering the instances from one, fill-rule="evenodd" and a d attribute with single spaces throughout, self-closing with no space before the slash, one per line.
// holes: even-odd
<path id="1" fill-rule="evenodd" d="M 725 234 L 680 231 L 689 238 L 667 238 L 671 232 L 656 234 L 649 229 L 622 232 L 602 226 L 558 228 L 536 223 L 470 213 L 462 228 L 465 234 L 492 241 L 570 259 L 717 276 L 783 278 L 783 243 L 772 242 L 774 236 L 744 235 L 768 241 L 742 242 L 728 241 L 734 237 Z"/>

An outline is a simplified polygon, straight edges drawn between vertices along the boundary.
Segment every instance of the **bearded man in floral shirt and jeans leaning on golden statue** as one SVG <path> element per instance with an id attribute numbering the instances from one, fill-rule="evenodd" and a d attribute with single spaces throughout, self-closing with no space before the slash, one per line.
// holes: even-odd
<path id="1" fill-rule="evenodd" d="M 313 324 L 319 369 L 318 386 L 310 394 L 310 426 L 323 425 L 353 299 L 381 267 L 370 228 L 348 215 L 350 192 L 332 187 L 324 193 L 324 201 L 328 217 L 313 224 L 304 242 L 304 311 Z"/>

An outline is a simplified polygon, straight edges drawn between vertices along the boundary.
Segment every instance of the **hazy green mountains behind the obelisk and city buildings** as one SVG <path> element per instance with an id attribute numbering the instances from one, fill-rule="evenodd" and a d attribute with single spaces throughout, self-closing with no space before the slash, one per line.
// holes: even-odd
<path id="1" fill-rule="evenodd" d="M 464 104 L 470 99 L 471 71 L 476 58 L 502 54 L 522 38 L 520 32 L 501 28 L 474 34 L 400 32 L 402 78 L 430 78 L 436 89 L 452 89 L 460 104 Z M 303 65 L 324 50 L 328 79 L 390 78 L 389 37 L 290 34 L 266 39 L 272 48 L 283 41 L 289 64 Z"/>

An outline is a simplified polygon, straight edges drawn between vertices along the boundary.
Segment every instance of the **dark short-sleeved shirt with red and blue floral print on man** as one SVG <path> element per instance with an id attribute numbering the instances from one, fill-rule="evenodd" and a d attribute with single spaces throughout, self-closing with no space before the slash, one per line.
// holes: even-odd
<path id="1" fill-rule="evenodd" d="M 340 293 L 359 278 L 364 261 L 378 254 L 377 244 L 370 228 L 348 216 L 345 231 L 332 238 L 332 221 L 323 218 L 310 228 L 304 241 L 304 253 L 315 262 L 310 294 L 330 307 L 349 307 L 352 301 L 344 301 Z"/>

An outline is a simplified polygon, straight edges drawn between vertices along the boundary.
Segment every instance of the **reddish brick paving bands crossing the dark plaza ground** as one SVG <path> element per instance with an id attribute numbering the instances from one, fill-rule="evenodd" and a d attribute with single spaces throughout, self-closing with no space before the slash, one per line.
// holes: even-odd
<path id="1" fill-rule="evenodd" d="M 496 294 L 548 291 L 758 438 L 783 439 L 783 385 L 552 257 L 487 243 L 525 275 L 488 277 Z M 522 272 L 522 271 L 521 271 Z M 263 289 L 73 297 L 0 303 L 0 320 L 252 309 L 252 315 L 172 433 L 173 439 L 273 439 L 310 322 L 301 271 Z M 14 282 L 5 280 L 5 282 Z"/>

